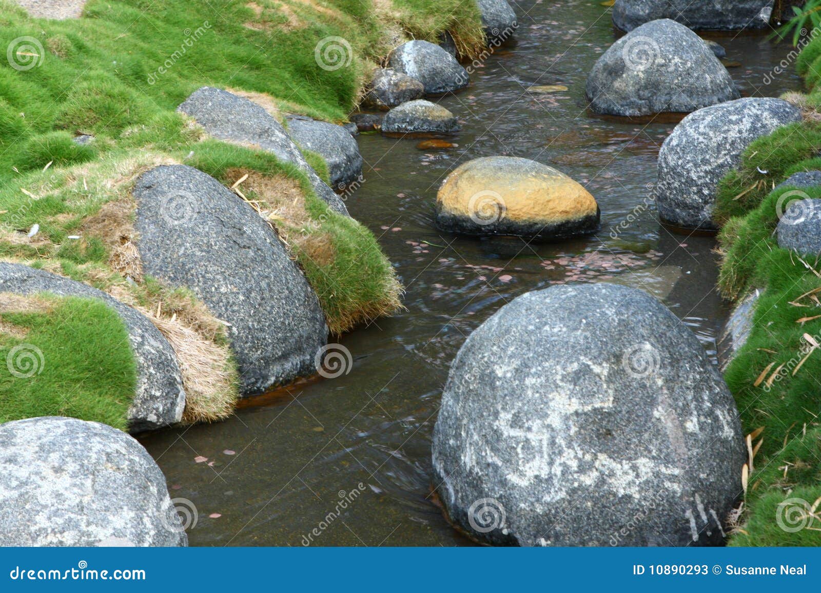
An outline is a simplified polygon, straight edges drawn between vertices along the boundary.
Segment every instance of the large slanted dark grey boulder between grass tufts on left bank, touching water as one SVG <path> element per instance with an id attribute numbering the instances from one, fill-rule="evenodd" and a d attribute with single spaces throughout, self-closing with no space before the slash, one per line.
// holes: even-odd
<path id="1" fill-rule="evenodd" d="M 146 274 L 192 290 L 228 326 L 241 395 L 312 375 L 328 327 L 314 291 L 247 203 L 190 166 L 136 181 L 137 248 Z"/>

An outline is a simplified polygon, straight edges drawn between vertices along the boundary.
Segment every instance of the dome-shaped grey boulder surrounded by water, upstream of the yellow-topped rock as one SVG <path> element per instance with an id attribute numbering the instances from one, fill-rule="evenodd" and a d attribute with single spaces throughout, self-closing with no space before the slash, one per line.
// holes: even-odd
<path id="1" fill-rule="evenodd" d="M 585 92 L 594 112 L 632 117 L 693 112 L 739 97 L 704 41 L 670 19 L 613 43 L 590 71 Z"/>

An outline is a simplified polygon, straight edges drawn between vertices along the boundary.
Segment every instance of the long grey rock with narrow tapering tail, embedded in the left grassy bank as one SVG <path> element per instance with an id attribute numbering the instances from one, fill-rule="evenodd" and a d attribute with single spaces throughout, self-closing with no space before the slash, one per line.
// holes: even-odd
<path id="1" fill-rule="evenodd" d="M 308 176 L 316 194 L 335 211 L 347 214 L 342 198 L 316 174 L 296 148 L 285 128 L 270 113 L 252 101 L 220 89 L 197 89 L 177 108 L 193 117 L 214 138 L 237 144 L 253 144 L 285 162 L 298 166 Z"/>

